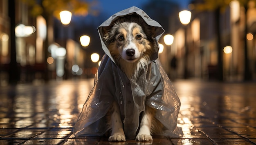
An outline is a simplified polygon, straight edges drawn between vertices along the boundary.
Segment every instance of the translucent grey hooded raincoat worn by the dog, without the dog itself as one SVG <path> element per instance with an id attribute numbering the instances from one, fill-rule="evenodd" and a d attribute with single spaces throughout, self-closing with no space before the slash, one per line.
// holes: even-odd
<path id="1" fill-rule="evenodd" d="M 115 64 L 102 40 L 104 36 L 102 27 L 108 27 L 112 21 L 134 13 L 141 16 L 148 25 L 156 28 L 156 41 L 164 33 L 164 29 L 158 22 L 150 19 L 144 11 L 137 7 L 130 7 L 112 15 L 98 27 L 101 45 L 106 54 L 95 75 L 94 87 L 74 125 L 76 136 L 103 136 L 106 134 L 109 128 L 104 116 L 113 101 L 119 104 L 126 139 L 135 139 L 139 128 L 140 114 L 145 110 L 145 105 L 157 109 L 155 118 L 166 128 L 162 134 L 157 135 L 167 137 L 182 135 L 182 130 L 177 127 L 176 123 L 180 100 L 158 59 L 159 48 L 155 48 L 155 55 L 151 58 L 152 62 L 146 66 L 145 71 L 139 74 L 139 78 L 129 80 Z"/>

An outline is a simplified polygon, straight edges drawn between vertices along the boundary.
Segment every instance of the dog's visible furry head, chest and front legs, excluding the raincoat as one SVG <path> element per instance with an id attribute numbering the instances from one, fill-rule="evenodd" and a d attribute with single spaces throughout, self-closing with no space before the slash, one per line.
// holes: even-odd
<path id="1" fill-rule="evenodd" d="M 135 81 L 141 71 L 150 63 L 150 58 L 157 47 L 155 28 L 136 16 L 121 17 L 109 27 L 104 28 L 105 42 L 115 63 L 126 74 L 130 81 Z M 136 141 L 153 141 L 151 135 L 162 131 L 163 125 L 155 119 L 156 109 L 145 106 L 142 113 Z M 107 113 L 107 124 L 112 130 L 109 141 L 126 141 L 121 121 L 119 106 L 112 104 Z"/>

